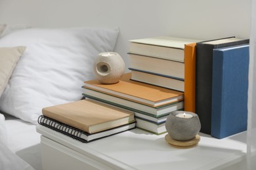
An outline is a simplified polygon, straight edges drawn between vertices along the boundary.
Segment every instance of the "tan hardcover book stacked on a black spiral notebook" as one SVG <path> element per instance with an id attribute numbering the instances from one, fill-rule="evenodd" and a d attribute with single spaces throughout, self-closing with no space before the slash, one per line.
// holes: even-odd
<path id="1" fill-rule="evenodd" d="M 39 126 L 88 143 L 135 128 L 134 113 L 90 99 L 45 107 Z"/>

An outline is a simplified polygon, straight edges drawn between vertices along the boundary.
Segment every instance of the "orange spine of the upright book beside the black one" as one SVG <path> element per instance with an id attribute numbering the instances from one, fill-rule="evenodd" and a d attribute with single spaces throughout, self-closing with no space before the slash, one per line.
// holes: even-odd
<path id="1" fill-rule="evenodd" d="M 196 112 L 196 43 L 184 46 L 184 110 Z"/>

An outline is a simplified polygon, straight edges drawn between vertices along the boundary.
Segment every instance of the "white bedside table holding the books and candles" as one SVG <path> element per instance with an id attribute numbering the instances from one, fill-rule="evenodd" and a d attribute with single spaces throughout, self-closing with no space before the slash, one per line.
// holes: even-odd
<path id="1" fill-rule="evenodd" d="M 163 135 L 140 129 L 81 143 L 47 127 L 41 133 L 43 169 L 241 169 L 246 133 L 215 139 L 200 133 L 194 148 L 173 148 Z"/>

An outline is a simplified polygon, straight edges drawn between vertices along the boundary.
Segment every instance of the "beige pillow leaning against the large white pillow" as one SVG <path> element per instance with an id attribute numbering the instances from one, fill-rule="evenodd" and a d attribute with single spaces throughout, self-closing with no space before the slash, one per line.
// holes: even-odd
<path id="1" fill-rule="evenodd" d="M 0 48 L 0 96 L 25 49 L 25 46 Z"/>

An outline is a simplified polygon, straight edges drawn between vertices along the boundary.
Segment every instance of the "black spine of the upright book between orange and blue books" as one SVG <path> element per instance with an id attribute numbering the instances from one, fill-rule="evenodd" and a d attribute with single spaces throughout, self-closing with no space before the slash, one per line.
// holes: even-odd
<path id="1" fill-rule="evenodd" d="M 196 114 L 206 134 L 211 133 L 212 50 L 212 45 L 196 44 Z"/>

